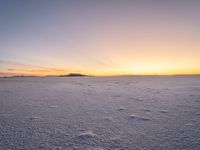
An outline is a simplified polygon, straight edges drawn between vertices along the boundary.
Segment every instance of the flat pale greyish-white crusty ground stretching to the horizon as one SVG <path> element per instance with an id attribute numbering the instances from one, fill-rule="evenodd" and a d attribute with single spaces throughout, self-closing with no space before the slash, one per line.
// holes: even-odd
<path id="1" fill-rule="evenodd" d="M 0 78 L 0 150 L 200 150 L 200 76 Z"/>

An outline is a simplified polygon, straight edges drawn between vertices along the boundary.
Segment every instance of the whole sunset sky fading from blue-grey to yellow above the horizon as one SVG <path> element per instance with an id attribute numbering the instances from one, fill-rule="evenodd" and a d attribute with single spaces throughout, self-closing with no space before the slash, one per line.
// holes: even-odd
<path id="1" fill-rule="evenodd" d="M 0 0 L 0 76 L 200 74 L 199 0 Z"/>

